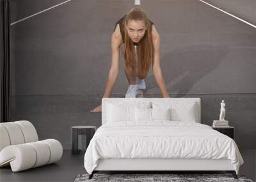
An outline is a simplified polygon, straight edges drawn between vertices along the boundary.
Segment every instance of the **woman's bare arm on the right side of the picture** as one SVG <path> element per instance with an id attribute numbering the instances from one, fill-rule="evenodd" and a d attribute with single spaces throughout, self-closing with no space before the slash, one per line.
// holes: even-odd
<path id="1" fill-rule="evenodd" d="M 163 98 L 169 98 L 168 92 L 166 90 L 166 86 L 164 84 L 164 78 L 161 71 L 161 63 L 160 63 L 160 36 L 156 31 L 156 27 L 153 25 L 152 27 L 152 37 L 154 44 L 154 64 L 153 64 L 153 73 L 156 79 L 157 85 L 163 95 Z"/>

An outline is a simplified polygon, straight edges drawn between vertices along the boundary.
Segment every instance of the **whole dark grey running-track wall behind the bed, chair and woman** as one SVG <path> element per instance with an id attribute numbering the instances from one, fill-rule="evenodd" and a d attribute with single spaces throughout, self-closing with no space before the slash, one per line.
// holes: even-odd
<path id="1" fill-rule="evenodd" d="M 12 1 L 12 20 L 60 1 L 33 2 Z M 256 29 L 196 0 L 141 2 L 161 36 L 170 96 L 201 98 L 206 125 L 218 119 L 224 99 L 237 145 L 255 149 Z M 115 22 L 133 3 L 72 0 L 13 25 L 12 120 L 31 121 L 40 139 L 58 139 L 66 149 L 71 126 L 99 127 L 101 113 L 90 110 L 100 104 L 106 86 Z M 120 56 L 113 97 L 127 91 L 123 70 Z M 145 97 L 161 97 L 151 70 L 145 81 Z"/>

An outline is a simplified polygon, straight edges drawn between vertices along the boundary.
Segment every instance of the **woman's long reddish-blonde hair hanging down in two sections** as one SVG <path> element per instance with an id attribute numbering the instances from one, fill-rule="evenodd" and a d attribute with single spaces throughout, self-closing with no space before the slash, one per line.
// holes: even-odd
<path id="1" fill-rule="evenodd" d="M 125 59 L 125 66 L 129 70 L 132 70 L 132 61 L 134 61 L 135 53 L 133 48 L 133 42 L 131 38 L 129 38 L 127 33 L 127 22 L 128 20 L 143 20 L 145 23 L 145 34 L 143 38 L 141 38 L 140 43 L 137 45 L 137 55 L 138 60 L 140 61 L 139 64 L 141 66 L 141 71 L 143 75 L 147 75 L 147 72 L 150 68 L 150 65 L 154 64 L 154 45 L 152 40 L 152 26 L 151 22 L 148 19 L 147 13 L 142 10 L 141 8 L 133 8 L 129 11 L 124 19 L 123 27 L 125 33 L 125 40 L 124 40 L 124 59 Z"/>

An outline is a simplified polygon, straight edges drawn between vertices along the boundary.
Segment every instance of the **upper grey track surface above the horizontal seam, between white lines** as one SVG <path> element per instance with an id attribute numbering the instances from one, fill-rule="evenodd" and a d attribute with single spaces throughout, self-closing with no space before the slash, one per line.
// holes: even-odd
<path id="1" fill-rule="evenodd" d="M 107 6 L 102 17 L 103 7 L 84 2 L 72 1 L 12 26 L 12 52 L 19 57 L 15 94 L 103 94 L 111 62 L 111 33 L 120 13 L 110 15 Z M 149 5 L 145 10 L 161 36 L 161 62 L 170 93 L 255 93 L 256 32 L 252 27 L 198 1 L 164 3 L 161 14 Z M 124 93 L 128 86 L 123 72 L 120 76 L 115 93 Z M 152 72 L 148 76 L 148 93 L 159 92 Z"/>

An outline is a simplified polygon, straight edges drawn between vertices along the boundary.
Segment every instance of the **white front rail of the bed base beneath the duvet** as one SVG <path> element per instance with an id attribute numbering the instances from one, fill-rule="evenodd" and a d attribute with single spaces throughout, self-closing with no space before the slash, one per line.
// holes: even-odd
<path id="1" fill-rule="evenodd" d="M 94 171 L 234 171 L 230 160 L 211 159 L 100 159 Z"/>

